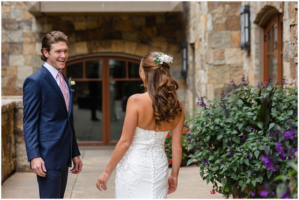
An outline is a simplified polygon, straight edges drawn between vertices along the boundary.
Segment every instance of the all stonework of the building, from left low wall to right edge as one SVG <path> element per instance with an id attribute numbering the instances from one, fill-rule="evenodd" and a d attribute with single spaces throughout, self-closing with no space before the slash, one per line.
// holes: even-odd
<path id="1" fill-rule="evenodd" d="M 281 76 L 285 76 L 288 83 L 298 84 L 298 3 L 295 1 L 155 2 L 159 6 L 134 2 L 131 5 L 138 6 L 129 6 L 126 12 L 122 12 L 125 3 L 123 7 L 104 2 L 108 6 L 102 3 L 102 7 L 97 8 L 81 4 L 85 7 L 76 8 L 63 2 L 74 10 L 54 6 L 61 9 L 55 13 L 45 11 L 48 8 L 45 4 L 51 4 L 43 3 L 44 6 L 41 1 L 37 5 L 29 1 L 1 1 L 2 99 L 22 95 L 25 78 L 43 64 L 39 58 L 42 37 L 51 30 L 61 30 L 69 36 L 71 62 L 105 56 L 138 62 L 149 51 L 173 56 L 171 72 L 179 84 L 178 96 L 188 115 L 197 107 L 197 95 L 213 99 L 222 90 L 228 93 L 232 89 L 230 81 L 241 84 L 242 74 L 251 84 L 264 80 L 264 30 L 272 17 L 280 19 L 282 25 Z M 165 5 L 168 10 L 163 8 Z M 243 5 L 250 7 L 250 51 L 241 50 L 239 45 Z M 96 11 L 104 7 L 108 7 L 107 12 Z M 184 42 L 187 42 L 186 77 L 181 75 Z M 22 102 L 7 105 L 3 102 L 2 181 L 12 170 L 26 171 L 29 167 L 22 131 Z"/>

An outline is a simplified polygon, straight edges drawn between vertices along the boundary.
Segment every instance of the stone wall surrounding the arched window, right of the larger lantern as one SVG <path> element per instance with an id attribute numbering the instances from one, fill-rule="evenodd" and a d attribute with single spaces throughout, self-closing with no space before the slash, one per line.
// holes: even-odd
<path id="1" fill-rule="evenodd" d="M 251 83 L 263 80 L 263 28 L 255 24 L 257 15 L 266 6 L 283 14 L 283 76 L 287 83 L 298 83 L 298 2 L 297 1 L 243 1 L 250 6 L 251 51 L 243 51 L 243 69 Z"/>

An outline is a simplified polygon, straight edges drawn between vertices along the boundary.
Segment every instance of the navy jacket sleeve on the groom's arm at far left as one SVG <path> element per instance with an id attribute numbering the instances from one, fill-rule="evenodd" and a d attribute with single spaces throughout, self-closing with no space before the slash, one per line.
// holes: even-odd
<path id="1" fill-rule="evenodd" d="M 39 83 L 32 77 L 28 77 L 23 85 L 23 129 L 28 161 L 40 157 L 38 132 L 41 102 Z"/>

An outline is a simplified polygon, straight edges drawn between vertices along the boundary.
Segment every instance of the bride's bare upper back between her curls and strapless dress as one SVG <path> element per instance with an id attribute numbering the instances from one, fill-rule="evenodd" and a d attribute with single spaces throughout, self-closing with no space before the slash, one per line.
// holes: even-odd
<path id="1" fill-rule="evenodd" d="M 137 126 L 144 130 L 154 130 L 158 131 L 169 131 L 173 129 L 180 119 L 180 114 L 178 114 L 174 120 L 168 122 L 161 122 L 160 126 L 155 123 L 154 109 L 152 107 L 152 99 L 150 98 L 148 92 L 143 94 L 134 95 L 138 101 L 138 122 Z M 180 101 L 179 101 L 180 102 Z M 180 102 L 181 106 L 181 102 Z"/>

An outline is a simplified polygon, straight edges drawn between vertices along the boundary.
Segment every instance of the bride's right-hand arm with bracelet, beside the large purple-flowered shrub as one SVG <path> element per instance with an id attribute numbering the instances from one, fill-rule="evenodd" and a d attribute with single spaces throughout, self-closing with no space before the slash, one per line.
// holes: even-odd
<path id="1" fill-rule="evenodd" d="M 180 120 L 178 124 L 171 130 L 172 167 L 170 176 L 168 178 L 168 194 L 176 191 L 176 187 L 178 184 L 179 169 L 182 161 L 182 134 L 185 116 L 184 108 L 181 102 L 180 105 L 182 108 Z"/>

